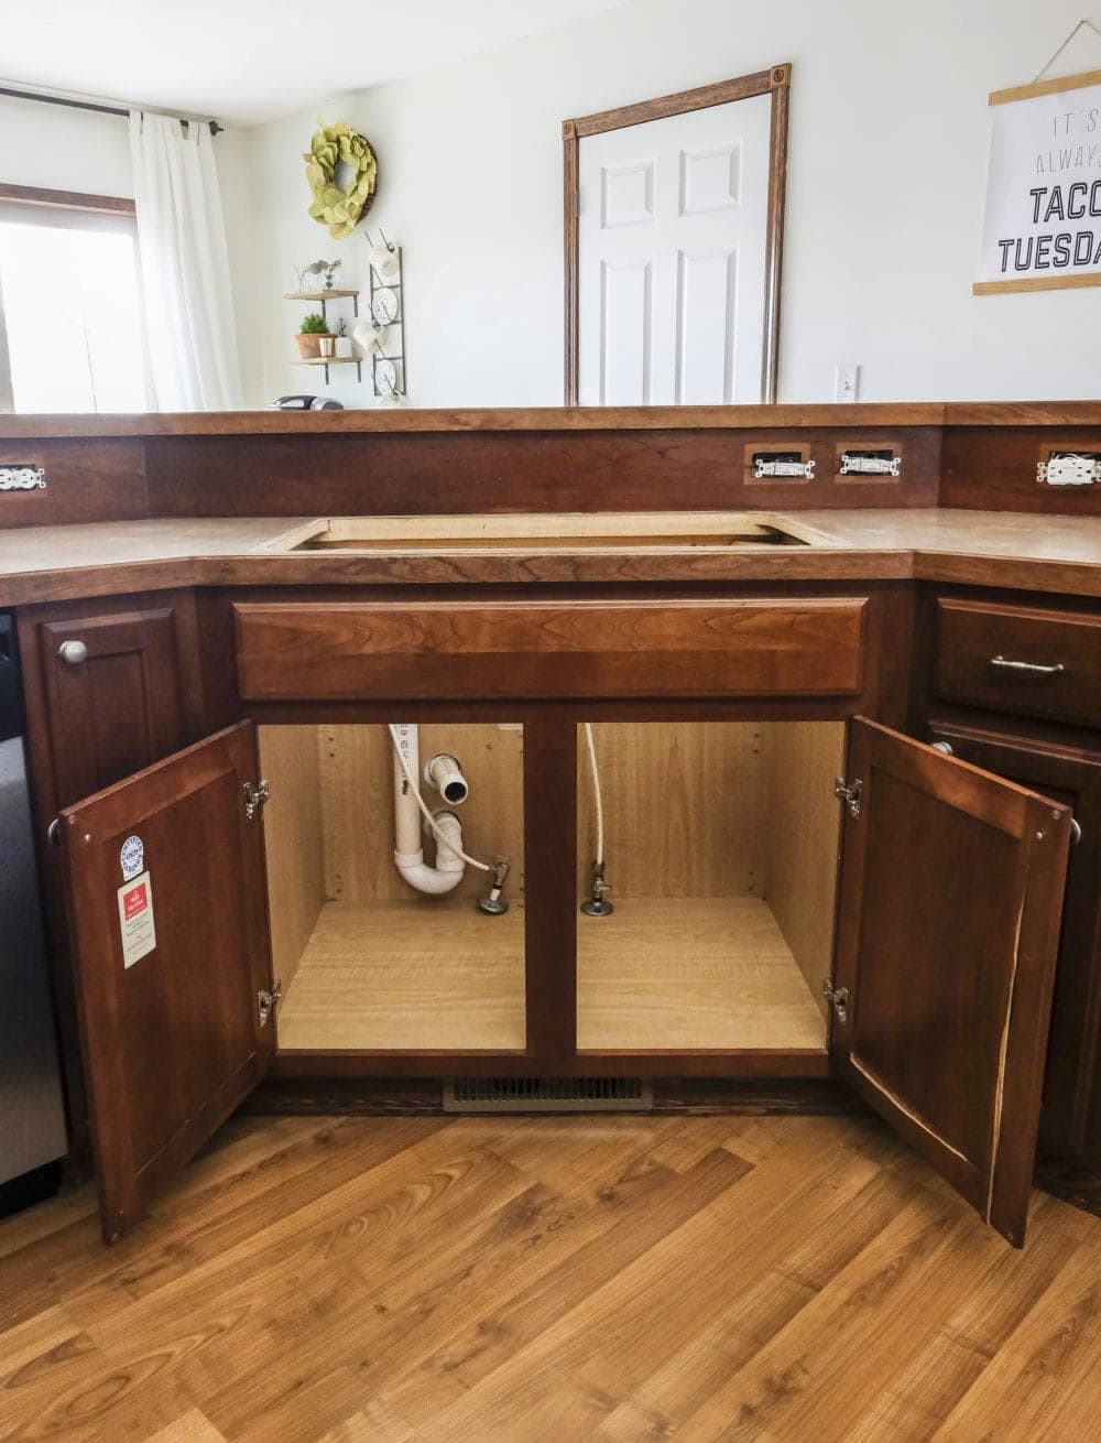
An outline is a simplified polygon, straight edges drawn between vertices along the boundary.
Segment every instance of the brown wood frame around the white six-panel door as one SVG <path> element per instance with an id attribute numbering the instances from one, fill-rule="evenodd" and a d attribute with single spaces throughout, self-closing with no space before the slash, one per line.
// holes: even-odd
<path id="1" fill-rule="evenodd" d="M 563 147 L 563 221 L 566 248 L 566 388 L 564 404 L 577 405 L 580 326 L 577 315 L 577 177 L 579 141 L 606 130 L 641 126 L 648 120 L 668 120 L 693 110 L 726 105 L 753 95 L 772 95 L 769 134 L 769 198 L 765 234 L 765 345 L 760 358 L 760 401 L 773 405 L 779 374 L 779 289 L 784 260 L 784 203 L 788 185 L 788 111 L 791 107 L 791 63 L 771 65 L 753 75 L 701 85 L 698 89 L 661 95 L 658 100 L 620 105 L 618 110 L 580 115 L 561 124 Z"/>

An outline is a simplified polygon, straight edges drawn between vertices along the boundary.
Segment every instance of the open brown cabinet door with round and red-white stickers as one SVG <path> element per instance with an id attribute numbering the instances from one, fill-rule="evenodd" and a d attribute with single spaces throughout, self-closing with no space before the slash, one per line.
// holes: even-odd
<path id="1" fill-rule="evenodd" d="M 271 1062 L 257 781 L 242 722 L 61 814 L 108 1242 Z"/>

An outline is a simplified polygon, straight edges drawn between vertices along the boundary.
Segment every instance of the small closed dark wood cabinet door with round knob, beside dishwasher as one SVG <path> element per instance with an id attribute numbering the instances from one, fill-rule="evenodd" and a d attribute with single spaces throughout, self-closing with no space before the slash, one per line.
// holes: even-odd
<path id="1" fill-rule="evenodd" d="M 176 612 L 165 605 L 39 622 L 56 807 L 91 797 L 196 734 Z"/>

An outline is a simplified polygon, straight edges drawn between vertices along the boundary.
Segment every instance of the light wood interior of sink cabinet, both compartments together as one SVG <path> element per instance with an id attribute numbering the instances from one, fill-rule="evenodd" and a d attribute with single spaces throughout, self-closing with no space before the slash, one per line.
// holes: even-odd
<path id="1" fill-rule="evenodd" d="M 469 781 L 463 848 L 511 860 L 504 916 L 476 908 L 473 867 L 443 896 L 398 874 L 385 726 L 258 732 L 280 1051 L 522 1051 L 522 727 L 420 726 L 421 765 L 446 752 Z M 593 723 L 593 742 L 613 912 L 577 911 L 595 854 L 579 727 L 579 1051 L 823 1049 L 844 723 Z"/>

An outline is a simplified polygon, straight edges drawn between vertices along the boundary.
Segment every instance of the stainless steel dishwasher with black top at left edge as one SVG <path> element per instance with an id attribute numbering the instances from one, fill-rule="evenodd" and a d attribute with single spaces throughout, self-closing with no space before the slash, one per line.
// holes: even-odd
<path id="1" fill-rule="evenodd" d="M 0 613 L 0 1216 L 40 1196 L 65 1154 L 23 752 L 14 619 Z"/>

